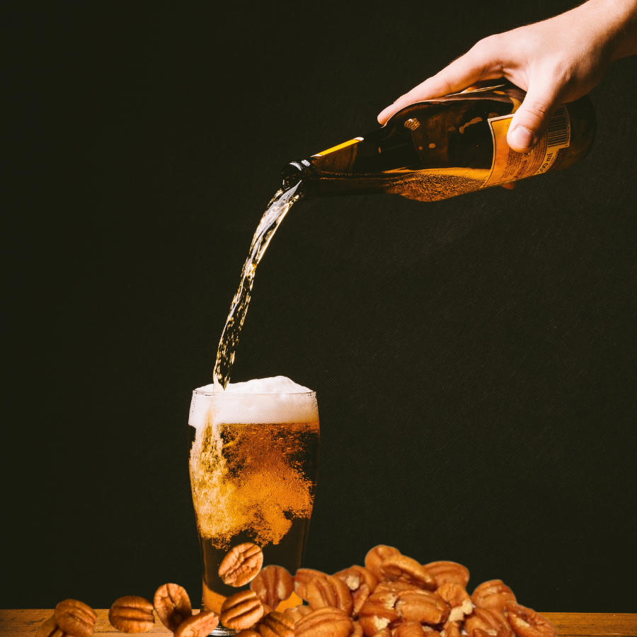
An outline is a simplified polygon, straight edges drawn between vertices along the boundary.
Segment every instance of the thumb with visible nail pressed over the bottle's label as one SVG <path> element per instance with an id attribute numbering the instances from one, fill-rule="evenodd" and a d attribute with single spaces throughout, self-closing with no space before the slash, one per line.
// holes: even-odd
<path id="1" fill-rule="evenodd" d="M 527 96 L 513 115 L 507 133 L 507 144 L 512 150 L 527 153 L 539 142 L 560 105 L 560 92 L 556 84 L 529 86 Z"/>

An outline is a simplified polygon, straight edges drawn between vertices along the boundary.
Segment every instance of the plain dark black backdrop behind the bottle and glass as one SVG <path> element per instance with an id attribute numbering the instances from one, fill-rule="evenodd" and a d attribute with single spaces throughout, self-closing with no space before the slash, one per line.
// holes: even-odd
<path id="1" fill-rule="evenodd" d="M 197 602 L 190 393 L 280 168 L 374 130 L 479 38 L 571 6 L 21 4 L 4 607 L 103 608 L 166 581 Z M 636 72 L 617 62 L 592 91 L 597 140 L 568 171 L 285 219 L 233 380 L 318 394 L 305 566 L 383 543 L 535 609 L 636 610 Z"/>

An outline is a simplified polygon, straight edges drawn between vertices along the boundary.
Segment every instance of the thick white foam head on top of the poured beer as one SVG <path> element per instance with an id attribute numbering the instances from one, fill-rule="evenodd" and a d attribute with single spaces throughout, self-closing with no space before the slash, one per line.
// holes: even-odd
<path id="1" fill-rule="evenodd" d="M 212 383 L 193 391 L 188 424 L 200 429 L 209 415 L 217 424 L 311 423 L 319 413 L 309 393 L 285 376 L 229 383 L 225 391 Z"/>

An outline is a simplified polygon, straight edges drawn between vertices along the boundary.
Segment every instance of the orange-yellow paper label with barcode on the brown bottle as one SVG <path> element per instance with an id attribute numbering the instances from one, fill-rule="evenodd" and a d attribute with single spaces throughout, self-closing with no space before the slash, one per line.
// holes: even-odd
<path id="1" fill-rule="evenodd" d="M 517 153 L 509 148 L 507 132 L 512 119 L 513 115 L 503 115 L 488 120 L 493 137 L 493 163 L 482 188 L 546 173 L 553 166 L 558 150 L 570 145 L 570 119 L 564 105 L 556 110 L 546 134 L 529 153 Z"/>

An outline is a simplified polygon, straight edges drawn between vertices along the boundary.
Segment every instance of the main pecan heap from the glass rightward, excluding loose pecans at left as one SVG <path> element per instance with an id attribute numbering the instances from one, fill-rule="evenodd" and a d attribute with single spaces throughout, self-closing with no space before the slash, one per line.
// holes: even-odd
<path id="1" fill-rule="evenodd" d="M 237 637 L 556 637 L 553 624 L 517 604 L 512 590 L 490 580 L 466 591 L 469 570 L 455 562 L 420 564 L 391 546 L 376 546 L 365 566 L 334 575 L 254 561 L 258 547 L 241 544 L 226 556 L 219 575 L 232 573 L 251 590 L 224 602 L 221 621 Z M 243 555 L 251 560 L 242 561 Z M 230 574 L 224 576 L 224 570 Z M 274 611 L 296 592 L 307 604 Z M 290 621 L 292 620 L 292 621 Z"/>

